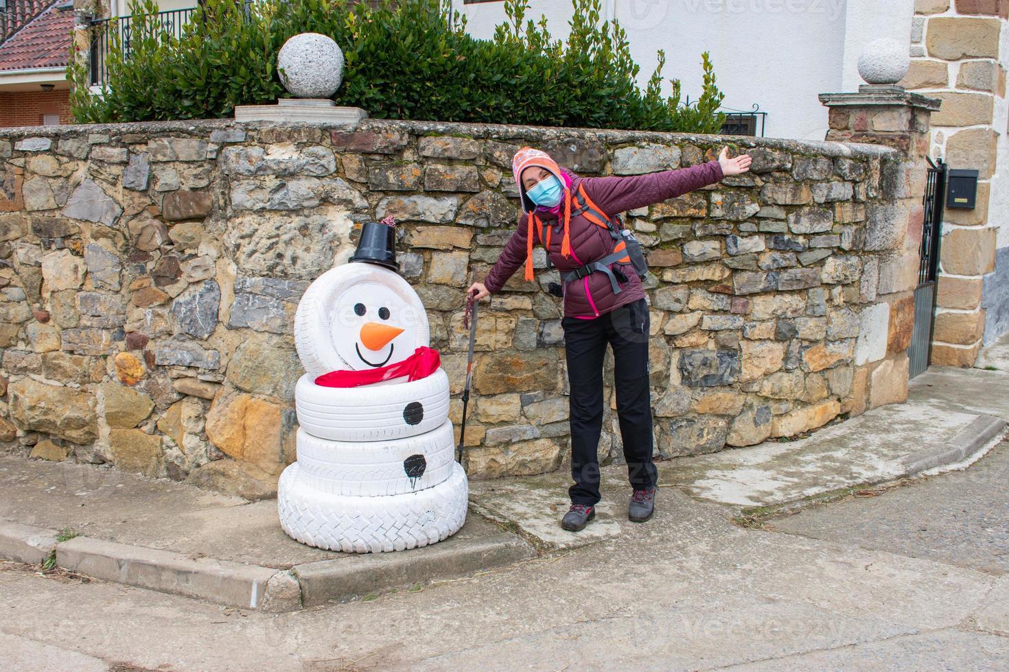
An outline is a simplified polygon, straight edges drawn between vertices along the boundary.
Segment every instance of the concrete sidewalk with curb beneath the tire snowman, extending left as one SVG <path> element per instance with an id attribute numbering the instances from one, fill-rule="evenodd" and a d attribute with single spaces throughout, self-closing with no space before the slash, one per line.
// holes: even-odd
<path id="1" fill-rule="evenodd" d="M 40 564 L 51 556 L 88 576 L 243 609 L 293 611 L 536 555 L 475 514 L 437 544 L 357 555 L 288 537 L 275 500 L 250 503 L 167 480 L 20 457 L 0 457 L 0 557 Z M 72 534 L 80 536 L 66 538 Z"/>

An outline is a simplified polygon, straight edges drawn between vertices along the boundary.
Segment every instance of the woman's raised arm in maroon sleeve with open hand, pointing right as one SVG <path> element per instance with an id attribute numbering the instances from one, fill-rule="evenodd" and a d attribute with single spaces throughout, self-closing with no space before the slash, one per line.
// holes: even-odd
<path id="1" fill-rule="evenodd" d="M 708 161 L 689 168 L 651 172 L 644 175 L 610 175 L 584 177 L 585 189 L 596 206 L 607 215 L 644 208 L 667 198 L 714 184 L 728 175 L 750 170 L 748 154 L 728 158 L 728 149 L 721 150 L 717 161 Z"/>

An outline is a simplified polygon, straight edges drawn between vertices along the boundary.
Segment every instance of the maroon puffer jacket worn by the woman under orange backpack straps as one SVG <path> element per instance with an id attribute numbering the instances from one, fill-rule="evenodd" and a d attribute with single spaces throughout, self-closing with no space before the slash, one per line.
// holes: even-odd
<path id="1" fill-rule="evenodd" d="M 572 193 L 577 191 L 579 183 L 584 184 L 585 192 L 592 203 L 610 217 L 682 195 L 718 182 L 723 177 L 721 164 L 717 161 L 708 161 L 689 168 L 628 176 L 581 177 L 567 168 L 562 167 L 561 170 L 571 178 Z M 569 224 L 572 254 L 570 257 L 564 257 L 561 255 L 563 232 L 558 230 L 562 220 L 543 209 L 537 209 L 536 214 L 543 221 L 544 231 L 547 226 L 555 227 L 550 236 L 550 249 L 547 253 L 550 261 L 562 275 L 579 266 L 602 259 L 613 251 L 613 239 L 605 229 L 581 215 L 575 215 Z M 483 284 L 491 294 L 500 291 L 512 274 L 526 262 L 528 219 L 529 215 L 523 214 L 519 228 L 506 243 L 497 262 L 483 280 Z M 542 244 L 535 231 L 534 236 L 536 236 L 534 242 Z M 621 293 L 613 293 L 605 273 L 591 273 L 581 280 L 563 283 L 565 317 L 598 317 L 622 305 L 644 298 L 645 290 L 632 264 L 613 263 L 609 268 L 619 269 L 628 278 L 627 282 L 619 283 Z"/>

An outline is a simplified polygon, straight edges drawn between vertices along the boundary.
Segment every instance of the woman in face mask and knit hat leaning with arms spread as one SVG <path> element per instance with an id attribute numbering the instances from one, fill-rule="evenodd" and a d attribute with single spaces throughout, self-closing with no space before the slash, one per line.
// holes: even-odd
<path id="1" fill-rule="evenodd" d="M 500 291 L 525 265 L 533 280 L 533 245 L 544 245 L 561 275 L 564 344 L 571 425 L 571 508 L 561 526 L 581 530 L 595 517 L 599 502 L 596 450 L 602 429 L 602 360 L 613 349 L 616 415 L 634 495 L 629 518 L 648 520 L 655 509 L 657 474 L 652 461 L 652 405 L 649 389 L 649 311 L 639 269 L 644 260 L 637 243 L 606 220 L 636 208 L 661 203 L 728 175 L 750 169 L 744 154 L 689 168 L 644 175 L 581 177 L 550 156 L 522 147 L 512 160 L 523 218 L 483 282 L 468 293 L 475 299 Z M 637 261 L 636 265 L 634 262 Z M 598 263 L 601 262 L 601 263 Z"/>

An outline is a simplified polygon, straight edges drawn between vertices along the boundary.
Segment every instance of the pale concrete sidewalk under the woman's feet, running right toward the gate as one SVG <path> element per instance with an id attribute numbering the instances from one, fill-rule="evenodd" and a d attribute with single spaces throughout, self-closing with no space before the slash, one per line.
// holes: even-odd
<path id="1" fill-rule="evenodd" d="M 853 490 L 936 471 L 964 468 L 999 442 L 1009 421 L 1009 337 L 980 360 L 986 369 L 933 367 L 911 382 L 908 403 L 883 406 L 794 441 L 659 462 L 665 489 L 721 505 L 726 515 L 766 516 Z M 628 526 L 626 468 L 602 469 L 596 520 L 578 533 L 557 519 L 567 509 L 565 472 L 471 484 L 470 505 L 541 550 L 610 539 Z M 668 492 L 668 491 L 666 491 Z"/>

